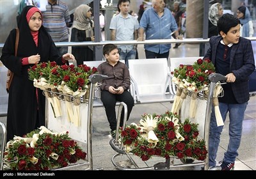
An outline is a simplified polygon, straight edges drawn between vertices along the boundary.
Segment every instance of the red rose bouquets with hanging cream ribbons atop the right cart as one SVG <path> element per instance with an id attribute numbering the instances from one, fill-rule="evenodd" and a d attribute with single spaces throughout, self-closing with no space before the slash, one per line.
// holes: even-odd
<path id="1" fill-rule="evenodd" d="M 172 113 L 179 113 L 182 102 L 191 95 L 189 104 L 189 118 L 195 118 L 196 114 L 196 100 L 198 98 L 208 98 L 209 85 L 211 81 L 208 79 L 209 75 L 214 74 L 215 66 L 211 59 L 197 59 L 193 65 L 180 64 L 171 72 L 177 91 L 175 100 L 172 105 Z M 214 105 L 217 125 L 224 125 L 220 109 L 218 97 L 223 93 L 221 82 L 217 82 L 214 86 L 212 104 Z M 209 100 L 209 99 L 208 99 Z"/>

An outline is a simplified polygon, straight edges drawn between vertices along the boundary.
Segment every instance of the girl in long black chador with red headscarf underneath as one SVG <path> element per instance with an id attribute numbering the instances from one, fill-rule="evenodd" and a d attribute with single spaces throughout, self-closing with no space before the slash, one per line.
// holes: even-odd
<path id="1" fill-rule="evenodd" d="M 1 61 L 14 76 L 9 90 L 7 141 L 23 136 L 45 125 L 45 96 L 33 86 L 28 69 L 36 63 L 56 61 L 64 65 L 72 54 L 60 56 L 51 36 L 42 26 L 42 13 L 35 6 L 26 6 L 20 14 L 19 45 L 15 56 L 16 29 L 12 29 L 2 49 Z"/>

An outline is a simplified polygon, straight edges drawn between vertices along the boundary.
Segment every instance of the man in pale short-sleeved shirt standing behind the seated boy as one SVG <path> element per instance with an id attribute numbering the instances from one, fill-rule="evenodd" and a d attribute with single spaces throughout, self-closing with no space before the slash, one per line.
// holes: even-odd
<path id="1" fill-rule="evenodd" d="M 136 40 L 138 39 L 138 20 L 129 14 L 130 0 L 119 0 L 118 8 L 120 13 L 112 17 L 109 29 L 111 40 Z M 137 45 L 118 45 L 120 59 L 125 61 L 129 68 L 129 59 L 136 58 Z"/>

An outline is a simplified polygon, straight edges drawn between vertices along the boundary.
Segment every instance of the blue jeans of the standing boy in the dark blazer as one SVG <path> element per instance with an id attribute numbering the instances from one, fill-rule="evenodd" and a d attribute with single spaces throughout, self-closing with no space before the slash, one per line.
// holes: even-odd
<path id="1" fill-rule="evenodd" d="M 220 113 L 223 121 L 226 120 L 227 113 L 229 112 L 229 142 L 227 152 L 224 153 L 223 161 L 235 162 L 238 156 L 237 150 L 239 148 L 242 136 L 244 111 L 248 102 L 242 104 L 219 104 Z M 209 133 L 209 166 L 216 166 L 216 154 L 218 146 L 220 144 L 220 135 L 223 130 L 223 126 L 217 127 L 216 118 L 214 113 L 214 107 L 212 107 L 210 133 Z"/>

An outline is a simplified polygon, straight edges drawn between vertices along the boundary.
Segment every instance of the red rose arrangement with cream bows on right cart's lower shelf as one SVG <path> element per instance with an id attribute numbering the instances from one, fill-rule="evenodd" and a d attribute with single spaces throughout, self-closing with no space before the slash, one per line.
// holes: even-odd
<path id="1" fill-rule="evenodd" d="M 180 122 L 179 116 L 167 111 L 164 114 L 144 114 L 140 123 L 120 128 L 126 153 L 133 153 L 146 161 L 152 156 L 169 159 L 205 160 L 207 149 L 199 139 L 198 124 L 188 119 Z"/>

